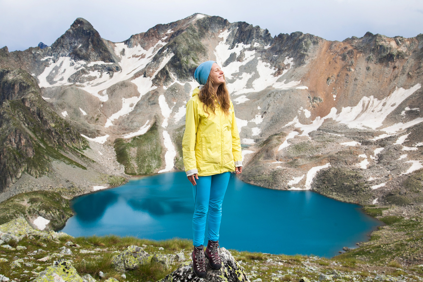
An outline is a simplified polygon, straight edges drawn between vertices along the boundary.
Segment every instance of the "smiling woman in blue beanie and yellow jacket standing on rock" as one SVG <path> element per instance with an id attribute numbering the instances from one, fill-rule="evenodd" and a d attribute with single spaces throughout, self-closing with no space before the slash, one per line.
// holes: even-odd
<path id="1" fill-rule="evenodd" d="M 222 266 L 218 241 L 222 202 L 231 171 L 242 172 L 242 155 L 222 69 L 215 61 L 206 61 L 195 70 L 194 78 L 202 86 L 194 89 L 187 102 L 182 151 L 194 196 L 192 268 L 197 276 L 205 277 L 205 256 L 211 268 Z M 207 215 L 209 241 L 204 252 Z"/>

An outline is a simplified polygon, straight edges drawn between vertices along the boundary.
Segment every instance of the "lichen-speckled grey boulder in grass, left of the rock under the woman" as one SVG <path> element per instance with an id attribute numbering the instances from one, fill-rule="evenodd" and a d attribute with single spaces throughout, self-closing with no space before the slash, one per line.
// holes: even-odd
<path id="1" fill-rule="evenodd" d="M 142 247 L 131 245 L 121 254 L 115 255 L 112 263 L 116 270 L 126 271 L 135 269 L 140 264 L 150 263 L 152 257 Z"/>

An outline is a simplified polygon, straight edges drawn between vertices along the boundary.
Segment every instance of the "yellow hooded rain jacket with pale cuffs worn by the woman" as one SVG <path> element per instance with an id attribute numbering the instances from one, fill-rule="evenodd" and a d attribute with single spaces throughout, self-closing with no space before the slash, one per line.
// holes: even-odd
<path id="1" fill-rule="evenodd" d="M 187 176 L 207 176 L 242 166 L 241 142 L 233 104 L 226 116 L 220 107 L 208 115 L 198 98 L 198 87 L 187 102 L 182 152 Z"/>

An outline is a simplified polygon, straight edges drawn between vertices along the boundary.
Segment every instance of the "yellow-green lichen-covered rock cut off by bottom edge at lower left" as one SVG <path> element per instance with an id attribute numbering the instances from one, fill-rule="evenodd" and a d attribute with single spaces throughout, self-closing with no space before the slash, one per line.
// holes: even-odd
<path id="1" fill-rule="evenodd" d="M 33 282 L 83 282 L 81 276 L 77 274 L 76 269 L 69 260 L 56 260 L 52 266 L 40 272 Z"/>

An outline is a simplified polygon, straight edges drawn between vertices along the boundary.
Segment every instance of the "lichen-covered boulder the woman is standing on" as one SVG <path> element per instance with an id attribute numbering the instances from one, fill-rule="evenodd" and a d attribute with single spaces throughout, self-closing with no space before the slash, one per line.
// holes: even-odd
<path id="1" fill-rule="evenodd" d="M 225 248 L 221 249 L 222 268 L 214 270 L 206 263 L 206 278 L 201 279 L 192 271 L 192 265 L 184 265 L 168 274 L 159 282 L 250 282 L 244 268 L 233 258 L 232 254 Z"/>

